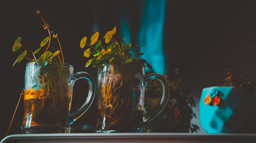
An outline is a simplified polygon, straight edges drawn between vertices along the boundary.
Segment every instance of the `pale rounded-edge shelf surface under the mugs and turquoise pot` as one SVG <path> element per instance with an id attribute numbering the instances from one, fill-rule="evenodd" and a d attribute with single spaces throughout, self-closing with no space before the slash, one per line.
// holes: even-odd
<path id="1" fill-rule="evenodd" d="M 247 143 L 256 142 L 256 134 L 199 134 L 199 133 L 69 133 L 17 134 L 5 137 L 0 143 Z"/>

